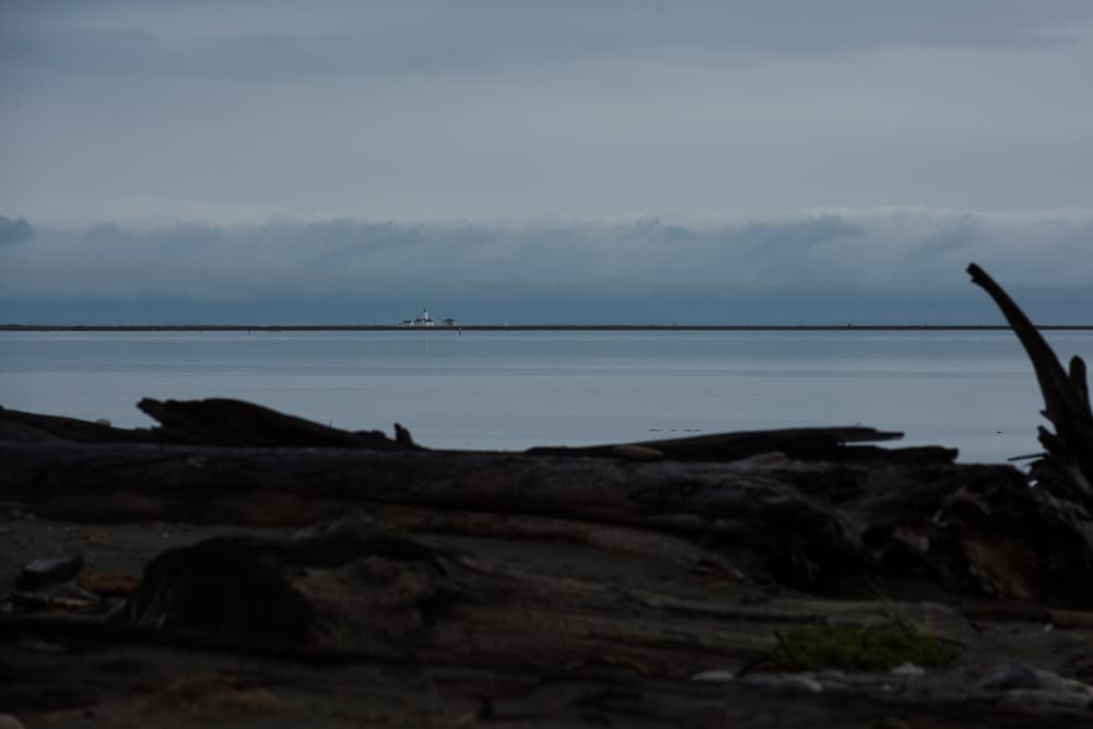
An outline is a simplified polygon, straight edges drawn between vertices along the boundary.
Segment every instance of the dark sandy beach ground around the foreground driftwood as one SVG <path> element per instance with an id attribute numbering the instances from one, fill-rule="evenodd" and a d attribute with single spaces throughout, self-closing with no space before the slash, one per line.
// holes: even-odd
<path id="1" fill-rule="evenodd" d="M 80 554 L 84 574 L 139 577 L 165 549 L 226 533 L 284 537 L 284 529 L 175 524 L 73 525 L 0 520 L 0 592 L 35 557 Z M 425 536 L 479 558 L 597 584 L 639 584 L 666 595 L 726 602 L 796 599 L 681 571 L 673 563 L 576 544 Z M 752 628 L 754 630 L 754 628 Z M 901 679 L 831 674 L 820 694 L 698 684 L 627 667 L 557 667 L 555 673 L 422 666 L 412 660 L 351 665 L 169 646 L 0 635 L 0 713 L 26 727 L 563 727 L 563 726 L 1093 726 L 1093 713 L 1029 714 L 977 694 L 998 663 L 1015 660 L 1093 680 L 1093 633 L 1032 623 L 949 626 L 965 644 L 945 670 Z M 737 670 L 727 656 L 724 668 Z M 709 666 L 680 667 L 682 675 Z M 788 693 L 787 693 L 788 691 Z"/>

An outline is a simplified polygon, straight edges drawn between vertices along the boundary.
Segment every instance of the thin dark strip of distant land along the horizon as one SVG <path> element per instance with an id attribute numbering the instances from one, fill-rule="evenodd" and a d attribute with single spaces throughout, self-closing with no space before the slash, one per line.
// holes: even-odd
<path id="1" fill-rule="evenodd" d="M 400 327 L 398 325 L 0 325 L 0 331 L 1008 331 L 1008 325 L 625 325 L 538 324 Z M 1044 331 L 1093 331 L 1093 325 L 1041 325 Z"/>

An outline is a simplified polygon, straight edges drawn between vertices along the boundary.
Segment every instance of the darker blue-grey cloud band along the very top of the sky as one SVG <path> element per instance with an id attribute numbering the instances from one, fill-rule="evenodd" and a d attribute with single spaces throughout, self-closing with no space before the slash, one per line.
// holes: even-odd
<path id="1" fill-rule="evenodd" d="M 1068 26 L 1093 19 L 1093 5 L 1081 0 L 400 0 L 327 4 L 314 13 L 321 23 L 309 17 L 312 11 L 291 7 L 209 3 L 204 24 L 196 26 L 191 3 L 181 16 L 188 23 L 178 23 L 171 9 L 141 13 L 128 3 L 96 3 L 94 13 L 83 14 L 34 4 L 8 9 L 17 21 L 0 37 L 0 59 L 9 64 L 228 79 L 450 73 L 525 62 L 579 64 L 589 58 L 736 63 L 755 54 L 1029 48 L 1071 43 Z M 57 22 L 58 15 L 64 22 Z"/>

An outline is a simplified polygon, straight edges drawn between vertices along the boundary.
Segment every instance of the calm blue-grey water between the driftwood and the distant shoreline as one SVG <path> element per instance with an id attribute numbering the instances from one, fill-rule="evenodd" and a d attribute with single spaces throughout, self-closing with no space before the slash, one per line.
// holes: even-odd
<path id="1" fill-rule="evenodd" d="M 1093 332 L 1048 332 L 1093 360 Z M 862 424 L 962 460 L 1037 450 L 1010 332 L 0 333 L 0 404 L 116 425 L 234 397 L 427 446 L 524 448 Z"/>

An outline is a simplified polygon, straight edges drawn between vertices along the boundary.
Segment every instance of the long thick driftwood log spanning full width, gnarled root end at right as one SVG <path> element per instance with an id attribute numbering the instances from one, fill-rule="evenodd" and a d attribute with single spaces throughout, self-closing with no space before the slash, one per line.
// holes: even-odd
<path id="1" fill-rule="evenodd" d="M 744 575 L 816 592 L 860 595 L 879 572 L 1093 604 L 1089 514 L 1006 466 L 138 444 L 0 445 L 0 461 L 5 498 L 73 521 L 307 525 L 408 507 L 423 529 L 470 531 L 489 515 L 498 525 L 520 516 L 624 527 L 616 543 L 636 532 L 682 539 Z M 507 525 L 514 534 L 538 527 Z"/>

